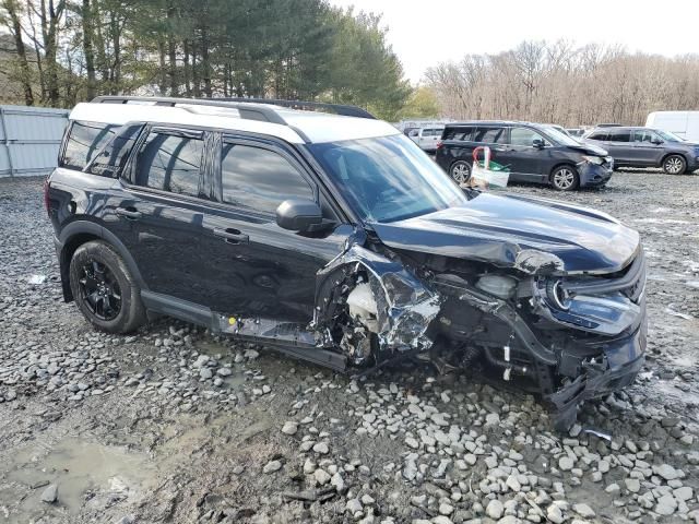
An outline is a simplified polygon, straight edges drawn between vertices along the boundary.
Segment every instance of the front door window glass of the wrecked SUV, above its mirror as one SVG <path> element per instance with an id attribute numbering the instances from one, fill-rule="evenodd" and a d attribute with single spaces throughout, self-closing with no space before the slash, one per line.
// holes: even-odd
<path id="1" fill-rule="evenodd" d="M 315 200 L 300 172 L 273 151 L 224 143 L 221 160 L 222 199 L 226 204 L 273 214 L 287 199 Z"/>

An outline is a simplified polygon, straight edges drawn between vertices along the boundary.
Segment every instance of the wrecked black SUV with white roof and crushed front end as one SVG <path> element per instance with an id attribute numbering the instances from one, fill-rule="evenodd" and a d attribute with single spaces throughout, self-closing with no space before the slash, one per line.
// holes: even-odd
<path id="1" fill-rule="evenodd" d="M 559 428 L 643 362 L 637 231 L 464 191 L 379 120 L 102 97 L 44 198 L 63 298 L 109 333 L 167 314 L 344 372 L 422 356 L 538 393 Z"/>

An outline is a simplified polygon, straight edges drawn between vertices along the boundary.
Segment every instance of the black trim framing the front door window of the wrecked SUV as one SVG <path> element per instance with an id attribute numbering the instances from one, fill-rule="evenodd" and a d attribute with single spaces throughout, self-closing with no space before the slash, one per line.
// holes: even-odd
<path id="1" fill-rule="evenodd" d="M 213 152 L 212 158 L 216 158 L 214 164 L 214 176 L 213 176 L 213 191 L 212 198 L 214 199 L 212 202 L 218 204 L 223 209 L 227 211 L 235 211 L 238 214 L 249 215 L 256 218 L 266 218 L 272 217 L 272 221 L 275 219 L 274 213 L 268 213 L 263 211 L 250 210 L 248 207 L 237 206 L 235 204 L 229 204 L 223 201 L 223 146 L 224 144 L 234 144 L 235 145 L 247 145 L 250 147 L 257 147 L 260 150 L 270 151 L 271 153 L 275 153 L 280 155 L 282 158 L 286 159 L 292 167 L 294 167 L 300 177 L 304 179 L 306 183 L 308 183 L 311 192 L 313 193 L 313 202 L 318 205 L 320 204 L 320 188 L 318 182 L 310 176 L 308 170 L 301 165 L 301 163 L 294 156 L 291 155 L 284 147 L 279 146 L 275 143 L 271 143 L 264 140 L 244 136 L 244 135 L 232 135 L 227 133 L 222 133 L 221 140 L 217 141 L 216 151 Z M 331 205 L 332 206 L 332 205 Z M 334 206 L 333 213 L 336 214 Z"/>

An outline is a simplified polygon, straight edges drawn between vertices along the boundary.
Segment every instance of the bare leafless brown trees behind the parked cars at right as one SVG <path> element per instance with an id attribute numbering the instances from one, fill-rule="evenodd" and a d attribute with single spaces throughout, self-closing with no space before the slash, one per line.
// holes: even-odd
<path id="1" fill-rule="evenodd" d="M 651 111 L 699 109 L 699 55 L 523 41 L 497 55 L 440 63 L 426 79 L 442 114 L 457 119 L 643 124 Z"/>

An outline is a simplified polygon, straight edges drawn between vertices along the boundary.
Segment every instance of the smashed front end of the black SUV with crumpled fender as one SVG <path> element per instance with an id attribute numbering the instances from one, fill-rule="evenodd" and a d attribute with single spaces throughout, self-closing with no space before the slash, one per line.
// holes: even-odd
<path id="1" fill-rule="evenodd" d="M 472 192 L 366 234 L 318 275 L 313 330 L 354 366 L 406 357 L 537 394 L 568 429 L 645 348 L 638 234 L 592 210 Z"/>

